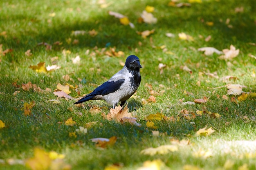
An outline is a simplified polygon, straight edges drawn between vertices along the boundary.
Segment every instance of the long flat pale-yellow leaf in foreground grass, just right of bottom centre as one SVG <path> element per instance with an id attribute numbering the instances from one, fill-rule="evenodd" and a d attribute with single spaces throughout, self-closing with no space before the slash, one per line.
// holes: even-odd
<path id="1" fill-rule="evenodd" d="M 175 152 L 177 151 L 178 148 L 175 145 L 162 145 L 162 146 L 158 146 L 157 148 L 147 148 L 144 150 L 141 150 L 140 154 L 144 154 L 144 155 L 156 155 L 156 154 L 167 154 L 168 152 Z"/>

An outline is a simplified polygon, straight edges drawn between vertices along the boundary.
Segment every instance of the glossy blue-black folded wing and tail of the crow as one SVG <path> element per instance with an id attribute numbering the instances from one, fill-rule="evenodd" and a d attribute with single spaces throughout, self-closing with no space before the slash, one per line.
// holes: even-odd
<path id="1" fill-rule="evenodd" d="M 97 95 L 107 95 L 109 93 L 114 93 L 115 91 L 119 90 L 120 86 L 124 83 L 124 79 L 119 79 L 113 82 L 105 82 L 101 84 L 99 87 L 95 88 L 95 90 L 77 101 L 74 104 L 79 104 L 91 100 L 93 97 Z"/>

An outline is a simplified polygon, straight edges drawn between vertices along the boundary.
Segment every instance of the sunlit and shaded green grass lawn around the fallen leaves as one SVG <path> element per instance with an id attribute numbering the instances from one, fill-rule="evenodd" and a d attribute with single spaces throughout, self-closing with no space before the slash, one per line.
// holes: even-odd
<path id="1" fill-rule="evenodd" d="M 249 170 L 256 168 L 255 156 L 246 157 L 246 153 L 256 153 L 256 142 L 248 145 L 248 141 L 255 141 L 255 98 L 246 99 L 236 104 L 229 99 L 222 99 L 227 94 L 227 88 L 216 88 L 225 84 L 243 84 L 245 92 L 256 92 L 256 78 L 251 75 L 256 71 L 256 60 L 249 54 L 256 55 L 256 4 L 254 0 L 203 0 L 202 3 L 193 3 L 191 7 L 168 7 L 168 0 L 148 1 L 110 1 L 110 6 L 100 8 L 97 1 L 83 0 L 8 0 L 0 2 L 0 36 L 2 50 L 12 49 L 11 53 L 0 53 L 0 120 L 6 127 L 0 129 L 0 169 L 19 170 L 26 167 L 19 164 L 9 165 L 7 160 L 33 157 L 36 147 L 43 150 L 56 151 L 65 155 L 65 163 L 74 170 L 100 170 L 111 164 L 120 164 L 123 170 L 134 170 L 143 166 L 147 160 L 161 159 L 170 169 L 182 169 L 184 165 L 198 166 L 204 170 L 225 169 L 227 160 L 234 161 L 232 169 L 247 163 Z M 146 5 L 155 7 L 154 16 L 158 19 L 156 24 L 139 24 L 139 18 Z M 242 13 L 235 13 L 236 7 L 243 7 Z M 117 18 L 108 15 L 108 11 L 116 11 L 128 16 L 135 24 L 135 29 L 119 23 Z M 55 13 L 54 17 L 49 16 Z M 233 28 L 225 24 L 227 18 Z M 221 22 L 222 20 L 222 22 Z M 213 22 L 208 26 L 206 22 Z M 85 35 L 72 36 L 72 31 L 95 29 L 98 34 L 91 37 Z M 136 31 L 155 29 L 155 33 L 143 39 Z M 178 33 L 184 32 L 191 35 L 193 42 L 180 40 Z M 174 33 L 175 38 L 166 37 L 165 33 Z M 205 42 L 211 35 L 211 40 Z M 166 45 L 167 54 L 153 45 Z M 71 38 L 71 43 L 67 39 Z M 78 44 L 72 44 L 74 39 Z M 38 46 L 40 42 L 61 45 L 52 45 L 52 50 L 45 46 Z M 141 42 L 141 46 L 139 45 Z M 105 54 L 96 54 L 98 50 L 106 47 L 116 47 L 116 51 L 124 51 L 124 57 L 108 57 Z M 240 49 L 239 55 L 232 60 L 231 66 L 226 61 L 218 59 L 219 55 L 206 56 L 197 49 L 212 46 L 216 49 L 227 49 L 233 44 Z M 26 56 L 25 51 L 31 49 L 31 56 Z M 62 51 L 70 50 L 71 54 L 63 55 Z M 89 50 L 89 54 L 86 51 Z M 107 47 L 106 50 L 109 50 Z M 50 102 L 57 99 L 52 93 L 38 93 L 24 91 L 22 84 L 32 82 L 45 89 L 56 89 L 56 85 L 66 83 L 72 85 L 82 84 L 81 94 L 88 94 L 95 86 L 100 85 L 122 66 L 128 55 L 135 54 L 140 58 L 141 85 L 136 97 L 128 100 L 129 112 L 137 117 L 141 126 L 120 124 L 103 119 L 101 113 L 90 114 L 90 104 L 103 107 L 102 112 L 108 113 L 110 106 L 103 101 L 85 103 L 85 108 L 75 106 L 74 100 L 59 99 L 60 104 Z M 79 55 L 81 62 L 73 64 L 72 58 Z M 51 58 L 58 56 L 52 62 Z M 159 60 L 161 58 L 161 60 Z M 39 62 L 46 65 L 57 64 L 60 69 L 51 73 L 37 73 L 29 68 Z M 158 64 L 166 64 L 164 72 L 160 74 Z M 180 66 L 188 66 L 192 73 L 183 71 Z M 203 72 L 203 75 L 199 73 Z M 219 78 L 209 77 L 204 73 L 216 72 Z M 72 80 L 65 81 L 63 75 L 69 75 Z M 232 75 L 237 80 L 228 82 L 220 81 L 221 77 Z M 79 79 L 84 79 L 83 83 Z M 200 80 L 201 86 L 196 83 Z M 14 86 L 16 82 L 18 86 Z M 148 99 L 149 89 L 145 84 L 152 84 L 153 90 L 163 94 L 155 95 L 156 103 L 143 104 L 142 99 Z M 164 85 L 160 87 L 159 84 Z M 20 91 L 16 96 L 15 91 Z M 74 89 L 70 95 L 79 97 Z M 193 93 L 187 95 L 187 91 Z M 214 91 L 214 92 L 213 92 Z M 209 97 L 206 104 L 181 105 L 194 99 Z M 26 117 L 22 110 L 25 102 L 34 101 L 31 116 Z M 72 108 L 70 110 L 70 108 Z M 186 120 L 179 115 L 180 110 L 186 108 L 192 113 L 196 110 L 207 110 L 219 113 L 221 118 L 207 115 L 197 116 L 195 119 Z M 152 129 L 146 127 L 145 117 L 161 112 L 167 117 L 179 117 L 179 121 L 155 122 L 156 130 L 163 133 L 159 137 L 152 135 Z M 79 116 L 76 113 L 82 113 Z M 65 120 L 72 117 L 75 126 L 66 126 Z M 248 120 L 245 119 L 248 117 Z M 86 135 L 69 137 L 69 132 L 74 132 L 79 126 L 85 126 L 91 121 L 99 121 L 96 126 L 88 129 Z M 58 122 L 61 122 L 58 123 Z M 193 124 L 191 122 L 194 122 Z M 102 123 L 103 126 L 100 126 Z M 196 131 L 205 126 L 216 130 L 209 137 L 197 137 Z M 114 146 L 99 149 L 90 141 L 91 138 L 112 136 L 117 137 Z M 166 155 L 141 155 L 140 151 L 149 147 L 158 147 L 171 144 L 172 139 L 190 140 L 188 146 L 179 146 L 178 151 Z M 240 143 L 239 143 L 240 142 Z M 195 157 L 199 150 L 210 150 L 212 156 L 204 159 Z M 165 167 L 165 168 L 166 168 Z M 163 169 L 165 169 L 163 168 Z"/>

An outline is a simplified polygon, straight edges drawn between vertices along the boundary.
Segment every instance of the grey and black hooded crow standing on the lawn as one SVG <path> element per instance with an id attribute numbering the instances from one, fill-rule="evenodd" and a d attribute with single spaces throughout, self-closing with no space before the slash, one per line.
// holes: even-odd
<path id="1" fill-rule="evenodd" d="M 113 108 L 121 102 L 124 106 L 128 100 L 137 90 L 141 82 L 139 69 L 142 68 L 139 63 L 139 58 L 135 55 L 127 57 L 124 68 L 113 75 L 107 82 L 101 84 L 95 90 L 81 98 L 74 104 L 86 102 L 88 100 L 105 100 Z"/>

